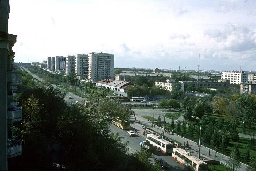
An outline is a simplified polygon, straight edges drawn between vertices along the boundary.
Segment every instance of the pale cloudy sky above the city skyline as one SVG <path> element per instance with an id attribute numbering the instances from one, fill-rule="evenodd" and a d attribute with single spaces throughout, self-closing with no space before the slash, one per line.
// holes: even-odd
<path id="1" fill-rule="evenodd" d="M 256 0 L 9 0 L 15 62 L 114 53 L 114 67 L 256 71 Z"/>

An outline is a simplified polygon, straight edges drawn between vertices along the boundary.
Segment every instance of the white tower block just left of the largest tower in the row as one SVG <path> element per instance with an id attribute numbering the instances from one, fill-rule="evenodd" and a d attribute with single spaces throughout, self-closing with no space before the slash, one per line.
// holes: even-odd
<path id="1" fill-rule="evenodd" d="M 77 75 L 88 75 L 88 55 L 77 54 L 75 55 L 75 73 Z"/>

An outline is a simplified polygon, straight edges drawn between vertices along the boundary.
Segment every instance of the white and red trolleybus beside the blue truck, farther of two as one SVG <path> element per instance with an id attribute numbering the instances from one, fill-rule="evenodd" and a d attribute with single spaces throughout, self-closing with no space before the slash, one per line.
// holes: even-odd
<path id="1" fill-rule="evenodd" d="M 156 146 L 159 151 L 165 154 L 172 153 L 173 144 L 169 141 L 160 138 L 159 136 L 156 136 L 154 134 L 147 134 L 146 141 L 149 141 L 150 144 Z"/>

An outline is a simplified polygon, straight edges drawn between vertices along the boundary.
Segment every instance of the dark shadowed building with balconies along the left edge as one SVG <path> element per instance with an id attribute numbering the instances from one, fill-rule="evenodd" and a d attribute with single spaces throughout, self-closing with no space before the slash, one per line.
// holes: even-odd
<path id="1" fill-rule="evenodd" d="M 22 107 L 14 98 L 22 76 L 13 69 L 12 47 L 17 36 L 8 34 L 9 0 L 0 0 L 0 11 L 0 170 L 8 170 L 8 158 L 21 155 L 21 140 L 13 139 L 10 128 L 22 120 Z"/>

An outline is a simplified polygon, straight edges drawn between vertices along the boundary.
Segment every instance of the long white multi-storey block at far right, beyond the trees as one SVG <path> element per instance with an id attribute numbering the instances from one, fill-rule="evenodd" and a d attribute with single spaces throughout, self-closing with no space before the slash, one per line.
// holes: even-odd
<path id="1" fill-rule="evenodd" d="M 239 72 L 222 72 L 221 79 L 230 80 L 230 84 L 240 84 L 248 81 L 248 73 Z"/>

